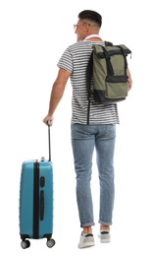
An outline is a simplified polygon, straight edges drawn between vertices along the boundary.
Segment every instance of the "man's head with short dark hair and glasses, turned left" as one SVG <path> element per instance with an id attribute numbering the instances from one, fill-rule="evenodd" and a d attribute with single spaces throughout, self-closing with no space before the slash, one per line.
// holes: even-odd
<path id="1" fill-rule="evenodd" d="M 102 26 L 102 17 L 95 11 L 84 10 L 78 14 L 75 25 L 77 41 L 83 40 L 89 34 L 98 34 Z"/>

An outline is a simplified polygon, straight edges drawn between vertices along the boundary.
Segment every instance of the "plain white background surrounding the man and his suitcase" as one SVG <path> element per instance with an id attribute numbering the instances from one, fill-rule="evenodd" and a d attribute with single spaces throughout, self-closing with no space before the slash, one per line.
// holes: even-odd
<path id="1" fill-rule="evenodd" d="M 116 201 L 112 242 L 97 238 L 98 179 L 95 158 L 92 175 L 93 227 L 96 246 L 79 250 L 81 228 L 76 210 L 76 176 L 71 148 L 71 84 L 51 128 L 54 167 L 54 233 L 56 245 L 31 240 L 21 248 L 19 192 L 24 160 L 48 158 L 47 114 L 57 62 L 76 41 L 73 24 L 84 9 L 103 17 L 100 35 L 132 50 L 128 58 L 133 88 L 119 103 L 115 156 Z M 81 2 L 1 0 L 0 2 L 0 252 L 20 255 L 150 255 L 150 8 L 149 1 Z"/>

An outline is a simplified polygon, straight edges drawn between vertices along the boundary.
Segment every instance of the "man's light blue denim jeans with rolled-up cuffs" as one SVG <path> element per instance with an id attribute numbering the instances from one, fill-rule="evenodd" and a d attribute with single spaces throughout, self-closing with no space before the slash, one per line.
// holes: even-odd
<path id="1" fill-rule="evenodd" d="M 80 226 L 94 225 L 90 180 L 92 156 L 96 162 L 100 184 L 99 224 L 112 224 L 115 184 L 114 152 L 116 125 L 72 124 L 72 146 L 76 169 L 76 201 Z"/>

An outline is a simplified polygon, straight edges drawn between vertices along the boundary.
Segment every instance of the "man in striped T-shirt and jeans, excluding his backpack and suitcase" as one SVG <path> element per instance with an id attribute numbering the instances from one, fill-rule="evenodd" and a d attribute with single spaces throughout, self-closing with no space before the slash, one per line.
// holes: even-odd
<path id="1" fill-rule="evenodd" d="M 110 225 L 112 224 L 115 185 L 114 185 L 114 152 L 116 124 L 119 121 L 117 104 L 91 104 L 89 125 L 87 125 L 87 92 L 85 71 L 92 51 L 92 44 L 104 45 L 99 35 L 102 17 L 98 13 L 85 10 L 78 14 L 74 26 L 77 42 L 69 46 L 58 62 L 59 72 L 53 84 L 49 110 L 43 122 L 53 123 L 54 112 L 64 95 L 68 79 L 73 87 L 72 99 L 72 146 L 76 169 L 76 200 L 79 222 L 82 227 L 79 248 L 93 246 L 92 234 L 93 203 L 90 180 L 94 148 L 100 182 L 100 210 L 98 223 L 101 242 L 110 242 Z M 131 88 L 130 72 L 127 69 L 128 90 Z"/>

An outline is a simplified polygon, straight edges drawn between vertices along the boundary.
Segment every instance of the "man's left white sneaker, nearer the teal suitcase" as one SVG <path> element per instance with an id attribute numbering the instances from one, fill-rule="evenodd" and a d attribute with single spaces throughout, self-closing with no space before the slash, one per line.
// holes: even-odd
<path id="1" fill-rule="evenodd" d="M 85 247 L 90 247 L 94 246 L 94 237 L 92 233 L 86 233 L 84 234 L 81 232 L 80 238 L 79 238 L 79 243 L 78 243 L 78 248 L 85 248 Z"/>

